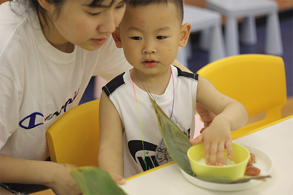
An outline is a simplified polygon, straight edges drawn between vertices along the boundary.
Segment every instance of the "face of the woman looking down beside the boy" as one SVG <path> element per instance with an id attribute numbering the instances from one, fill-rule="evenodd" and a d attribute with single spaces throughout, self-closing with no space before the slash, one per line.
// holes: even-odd
<path id="1" fill-rule="evenodd" d="M 125 12 L 124 0 L 104 0 L 99 6 L 91 6 L 93 0 L 65 0 L 59 13 L 51 10 L 53 26 L 46 38 L 52 45 L 68 42 L 86 50 L 100 49 L 115 31 Z M 58 48 L 58 47 L 57 47 Z"/>

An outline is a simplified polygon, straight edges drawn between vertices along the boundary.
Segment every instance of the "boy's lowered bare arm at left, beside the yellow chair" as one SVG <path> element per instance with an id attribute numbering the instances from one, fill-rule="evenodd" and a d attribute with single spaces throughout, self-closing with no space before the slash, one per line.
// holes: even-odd
<path id="1" fill-rule="evenodd" d="M 124 184 L 122 122 L 112 101 L 102 92 L 100 99 L 99 167 L 118 184 Z"/>

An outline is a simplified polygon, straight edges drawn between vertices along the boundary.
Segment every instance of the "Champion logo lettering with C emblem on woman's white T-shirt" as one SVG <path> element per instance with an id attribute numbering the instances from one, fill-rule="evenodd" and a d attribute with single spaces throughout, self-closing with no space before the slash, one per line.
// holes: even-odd
<path id="1" fill-rule="evenodd" d="M 76 98 L 77 94 L 79 92 L 79 89 L 74 93 L 74 97 L 73 98 L 69 98 L 65 104 L 62 106 L 62 108 L 60 109 L 60 112 L 55 112 L 53 114 L 48 115 L 47 117 L 44 117 L 42 115 L 42 113 L 39 112 L 34 112 L 30 115 L 28 115 L 27 117 L 24 117 L 20 122 L 19 125 L 21 126 L 21 128 L 23 129 L 32 129 L 35 128 L 39 125 L 42 125 L 43 122 L 36 122 L 36 121 L 46 121 L 46 120 L 50 120 L 51 118 L 53 118 L 54 116 L 59 116 L 62 111 L 65 113 L 66 112 L 66 107 L 68 104 L 71 104 L 73 102 L 73 100 Z M 40 118 L 41 117 L 41 118 Z M 44 118 L 44 119 L 43 119 Z"/>

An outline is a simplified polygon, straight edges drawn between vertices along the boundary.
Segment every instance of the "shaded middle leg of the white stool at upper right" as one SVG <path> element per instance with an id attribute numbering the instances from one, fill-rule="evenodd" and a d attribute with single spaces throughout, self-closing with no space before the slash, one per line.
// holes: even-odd
<path id="1" fill-rule="evenodd" d="M 257 43 L 256 24 L 254 16 L 244 18 L 240 31 L 240 41 L 244 45 L 255 45 Z"/>

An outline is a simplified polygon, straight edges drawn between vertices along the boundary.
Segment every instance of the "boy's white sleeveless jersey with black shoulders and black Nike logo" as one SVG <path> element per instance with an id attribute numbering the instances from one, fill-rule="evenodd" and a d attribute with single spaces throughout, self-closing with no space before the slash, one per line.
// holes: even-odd
<path id="1" fill-rule="evenodd" d="M 182 72 L 174 66 L 171 67 L 175 85 L 174 108 L 171 120 L 188 138 L 193 138 L 198 75 Z M 117 76 L 103 87 L 122 119 L 125 178 L 172 160 L 168 155 L 164 141 L 161 143 L 162 136 L 149 96 L 134 84 L 141 118 L 141 135 L 136 98 L 129 71 Z M 172 76 L 165 93 L 160 96 L 152 94 L 152 96 L 164 113 L 170 117 L 173 105 Z M 144 144 L 142 144 L 142 139 Z M 145 156 L 146 161 L 144 161 Z"/>

